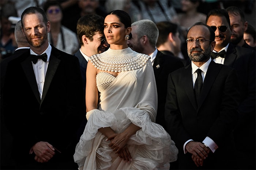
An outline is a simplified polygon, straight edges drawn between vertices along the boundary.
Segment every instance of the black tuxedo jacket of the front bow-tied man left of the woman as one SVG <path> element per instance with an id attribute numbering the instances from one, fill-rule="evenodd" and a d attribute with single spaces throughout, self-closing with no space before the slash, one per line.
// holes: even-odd
<path id="1" fill-rule="evenodd" d="M 65 167 L 74 162 L 76 132 L 84 114 L 82 79 L 76 57 L 52 46 L 40 99 L 30 52 L 9 62 L 3 92 L 6 124 L 14 137 L 13 155 L 19 163 L 35 163 L 29 155 L 31 147 L 48 142 L 56 147 L 56 155 L 34 168 Z M 60 163 L 53 167 L 53 163 Z M 49 165 L 49 166 L 48 166 Z"/>

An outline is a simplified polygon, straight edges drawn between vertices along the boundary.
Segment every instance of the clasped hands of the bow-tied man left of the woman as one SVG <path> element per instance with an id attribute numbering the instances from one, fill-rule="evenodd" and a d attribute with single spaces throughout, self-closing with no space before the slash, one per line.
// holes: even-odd
<path id="1" fill-rule="evenodd" d="M 48 162 L 55 155 L 55 149 L 48 142 L 37 142 L 32 149 L 37 162 Z"/>

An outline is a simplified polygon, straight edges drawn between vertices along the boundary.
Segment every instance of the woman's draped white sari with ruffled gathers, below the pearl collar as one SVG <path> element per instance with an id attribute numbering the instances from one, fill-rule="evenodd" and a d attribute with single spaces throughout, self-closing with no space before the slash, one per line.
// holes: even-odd
<path id="1" fill-rule="evenodd" d="M 178 150 L 163 127 L 154 123 L 157 88 L 150 60 L 138 70 L 111 76 L 106 72 L 97 75 L 100 103 L 98 109 L 87 112 L 88 122 L 76 146 L 74 160 L 79 169 L 169 169 Z M 127 143 L 132 155 L 128 163 L 114 154 L 98 129 L 111 127 L 121 133 L 131 123 L 141 129 Z"/>

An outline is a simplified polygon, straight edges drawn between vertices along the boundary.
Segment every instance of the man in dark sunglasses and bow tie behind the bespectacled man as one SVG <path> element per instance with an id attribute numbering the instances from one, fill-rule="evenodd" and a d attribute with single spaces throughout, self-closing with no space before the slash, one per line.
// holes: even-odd
<path id="1" fill-rule="evenodd" d="M 238 107 L 239 121 L 234 129 L 237 148 L 238 169 L 255 169 L 255 51 L 234 46 L 230 43 L 232 27 L 225 9 L 213 9 L 206 18 L 206 24 L 215 30 L 216 46 L 212 60 L 237 70 L 241 88 L 241 103 Z"/>

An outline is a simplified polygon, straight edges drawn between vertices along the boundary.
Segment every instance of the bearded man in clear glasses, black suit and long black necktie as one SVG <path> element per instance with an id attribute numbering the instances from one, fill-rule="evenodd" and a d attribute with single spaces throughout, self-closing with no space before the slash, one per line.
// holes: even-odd
<path id="1" fill-rule="evenodd" d="M 168 77 L 166 126 L 179 149 L 179 169 L 235 167 L 232 130 L 238 118 L 238 78 L 210 58 L 215 34 L 202 22 L 187 35 L 192 62 Z"/>

